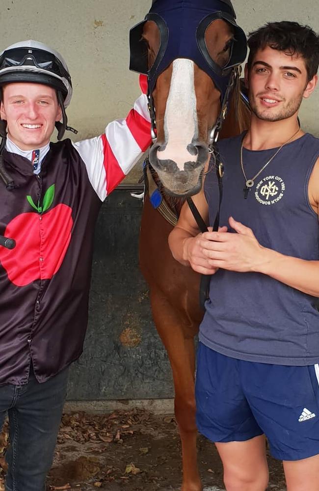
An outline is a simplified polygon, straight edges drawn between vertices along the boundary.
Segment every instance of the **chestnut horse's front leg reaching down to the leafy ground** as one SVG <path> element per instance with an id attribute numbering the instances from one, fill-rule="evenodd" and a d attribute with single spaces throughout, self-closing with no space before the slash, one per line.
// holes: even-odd
<path id="1" fill-rule="evenodd" d="M 197 468 L 194 394 L 194 335 L 197 327 L 190 329 L 189 326 L 183 326 L 179 312 L 158 289 L 151 290 L 151 305 L 154 322 L 173 371 L 175 416 L 182 442 L 182 491 L 200 491 L 202 487 Z"/>

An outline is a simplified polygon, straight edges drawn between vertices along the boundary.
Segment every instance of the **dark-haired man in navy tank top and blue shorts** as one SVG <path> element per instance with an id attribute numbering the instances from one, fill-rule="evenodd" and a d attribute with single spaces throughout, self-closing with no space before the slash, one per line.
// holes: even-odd
<path id="1" fill-rule="evenodd" d="M 219 142 L 221 228 L 199 234 L 185 206 L 169 238 L 179 262 L 212 275 L 197 425 L 216 444 L 227 491 L 266 490 L 265 435 L 288 491 L 318 491 L 319 139 L 299 127 L 298 110 L 318 81 L 319 36 L 271 23 L 248 46 L 251 126 Z M 209 171 L 194 200 L 211 225 L 216 194 Z"/>

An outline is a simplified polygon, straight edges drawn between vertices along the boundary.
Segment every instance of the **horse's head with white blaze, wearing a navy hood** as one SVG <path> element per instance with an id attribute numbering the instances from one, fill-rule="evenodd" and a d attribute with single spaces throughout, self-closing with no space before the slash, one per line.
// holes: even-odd
<path id="1" fill-rule="evenodd" d="M 246 37 L 230 0 L 154 0 L 131 29 L 130 68 L 148 75 L 154 145 L 165 190 L 196 194 L 227 110 Z"/>

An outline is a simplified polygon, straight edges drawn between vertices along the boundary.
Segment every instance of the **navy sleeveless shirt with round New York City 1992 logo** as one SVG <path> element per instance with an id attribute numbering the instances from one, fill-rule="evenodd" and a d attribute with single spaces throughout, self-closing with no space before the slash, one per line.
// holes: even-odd
<path id="1" fill-rule="evenodd" d="M 308 199 L 308 183 L 319 158 L 319 139 L 306 134 L 285 145 L 255 179 L 244 199 L 240 167 L 243 135 L 219 142 L 225 166 L 220 225 L 228 218 L 250 227 L 262 246 L 306 260 L 319 260 L 319 220 Z M 243 149 L 248 179 L 276 149 Z M 218 184 L 212 170 L 205 196 L 213 224 Z M 234 232 L 235 233 L 235 232 Z M 200 341 L 223 355 L 280 365 L 319 362 L 319 312 L 315 297 L 262 273 L 218 270 L 211 279 L 210 299 L 200 326 Z"/>

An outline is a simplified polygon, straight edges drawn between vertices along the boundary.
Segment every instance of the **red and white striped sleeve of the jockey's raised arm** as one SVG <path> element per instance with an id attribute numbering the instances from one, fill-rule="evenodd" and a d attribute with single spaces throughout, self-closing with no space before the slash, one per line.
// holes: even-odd
<path id="1" fill-rule="evenodd" d="M 147 80 L 140 76 L 142 95 L 125 119 L 112 121 L 105 134 L 73 143 L 83 160 L 89 181 L 104 201 L 130 172 L 151 144 L 150 115 L 147 108 Z"/>

